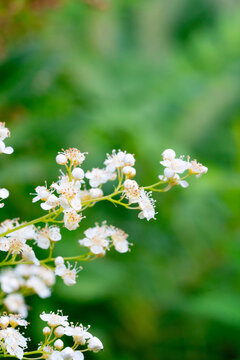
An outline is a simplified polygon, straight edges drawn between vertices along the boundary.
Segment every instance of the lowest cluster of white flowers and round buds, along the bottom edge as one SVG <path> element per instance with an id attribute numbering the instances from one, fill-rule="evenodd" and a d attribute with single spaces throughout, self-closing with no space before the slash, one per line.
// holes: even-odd
<path id="1" fill-rule="evenodd" d="M 42 313 L 40 318 L 48 325 L 43 328 L 45 339 L 37 350 L 25 352 L 28 339 L 16 328 L 26 327 L 27 321 L 19 315 L 0 316 L 0 352 L 3 351 L 4 354 L 10 354 L 18 359 L 38 354 L 41 358 L 50 360 L 83 360 L 83 352 L 98 352 L 103 349 L 102 342 L 89 332 L 89 327 L 84 327 L 82 324 L 70 324 L 68 316 L 63 316 L 60 311 L 56 314 Z M 64 336 L 72 338 L 72 347 L 64 347 L 61 339 Z"/>

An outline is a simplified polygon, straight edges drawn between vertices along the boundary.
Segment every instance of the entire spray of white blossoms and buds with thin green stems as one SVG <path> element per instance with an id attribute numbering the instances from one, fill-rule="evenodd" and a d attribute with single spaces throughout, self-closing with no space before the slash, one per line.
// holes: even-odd
<path id="1" fill-rule="evenodd" d="M 0 153 L 13 152 L 3 142 L 9 136 L 5 124 L 0 123 Z M 78 240 L 81 246 L 79 253 L 69 257 L 59 256 L 55 254 L 55 249 L 59 241 L 64 241 L 61 226 L 70 231 L 76 230 L 85 218 L 84 211 L 102 201 L 137 210 L 140 219 L 155 219 L 154 192 L 167 192 L 176 185 L 186 188 L 189 185 L 186 178 L 191 175 L 200 177 L 208 171 L 196 160 L 190 161 L 189 156 L 186 160 L 183 156 L 177 158 L 172 149 L 165 150 L 162 157 L 163 174 L 159 175 L 156 183 L 141 186 L 133 179 L 136 175 L 133 154 L 113 150 L 110 155 L 107 154 L 102 167 L 86 171 L 82 168 L 86 153 L 75 148 L 63 150 L 56 156 L 56 162 L 61 166 L 59 178 L 49 187 L 37 186 L 32 199 L 34 203 L 41 202 L 44 215 L 29 222 L 20 222 L 15 218 L 0 224 L 0 267 L 4 267 L 0 273 L 0 303 L 5 311 L 11 313 L 0 316 L 2 356 L 24 360 L 31 359 L 32 355 L 50 360 L 83 360 L 83 352 L 97 352 L 103 348 L 101 341 L 89 332 L 89 327 L 73 325 L 67 316 L 58 312 L 41 314 L 41 319 L 47 322 L 43 329 L 44 340 L 36 351 L 25 352 L 28 339 L 17 329 L 27 325 L 23 320 L 28 315 L 25 297 L 32 294 L 41 298 L 50 296 L 56 276 L 61 277 L 67 286 L 74 285 L 81 262 L 100 258 L 111 248 L 126 253 L 131 245 L 123 230 L 104 221 L 84 232 L 84 237 Z M 109 181 L 114 182 L 110 193 L 104 189 L 104 184 Z M 0 201 L 8 195 L 8 190 L 0 189 Z M 40 223 L 43 225 L 39 226 Z M 42 250 L 36 252 L 36 248 Z M 71 264 L 71 261 L 74 263 Z M 63 336 L 72 338 L 72 347 L 64 346 Z"/>

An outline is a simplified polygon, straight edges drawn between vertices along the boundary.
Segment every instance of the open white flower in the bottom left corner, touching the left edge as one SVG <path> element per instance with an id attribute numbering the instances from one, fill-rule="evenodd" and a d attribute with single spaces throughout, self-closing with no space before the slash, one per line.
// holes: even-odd
<path id="1" fill-rule="evenodd" d="M 23 358 L 23 349 L 27 346 L 27 339 L 14 328 L 0 330 L 0 338 L 4 339 L 4 348 L 10 355 L 16 356 L 18 359 Z"/>

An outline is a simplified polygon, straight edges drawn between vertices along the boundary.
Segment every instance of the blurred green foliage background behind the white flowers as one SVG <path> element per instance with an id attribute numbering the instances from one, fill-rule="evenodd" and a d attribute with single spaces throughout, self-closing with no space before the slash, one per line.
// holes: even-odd
<path id="1" fill-rule="evenodd" d="M 239 1 L 0 3 L 0 118 L 15 149 L 0 159 L 11 193 L 2 219 L 42 214 L 29 193 L 56 179 L 62 148 L 88 151 L 84 169 L 126 149 L 141 184 L 156 181 L 169 147 L 209 168 L 155 196 L 156 221 L 102 203 L 63 231 L 59 254 L 79 251 L 102 220 L 134 246 L 84 264 L 74 287 L 60 279 L 51 298 L 28 299 L 33 342 L 38 314 L 63 309 L 104 342 L 86 359 L 240 359 Z"/>

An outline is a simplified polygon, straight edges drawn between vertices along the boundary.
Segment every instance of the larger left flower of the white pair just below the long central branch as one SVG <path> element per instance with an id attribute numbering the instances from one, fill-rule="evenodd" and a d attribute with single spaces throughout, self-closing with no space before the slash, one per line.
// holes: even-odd
<path id="1" fill-rule="evenodd" d="M 108 236 L 112 234 L 112 229 L 105 224 L 102 226 L 96 225 L 87 229 L 84 234 L 86 237 L 79 240 L 79 244 L 88 247 L 95 255 L 105 255 L 109 246 Z"/>

